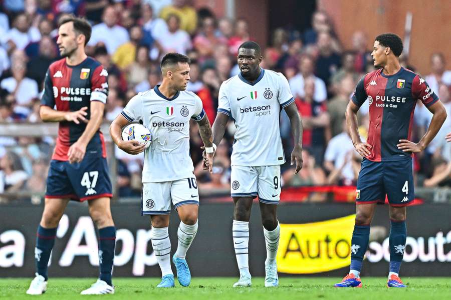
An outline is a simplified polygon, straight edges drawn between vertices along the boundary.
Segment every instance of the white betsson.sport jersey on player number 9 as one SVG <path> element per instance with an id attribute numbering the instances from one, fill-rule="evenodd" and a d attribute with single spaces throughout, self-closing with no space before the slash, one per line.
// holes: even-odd
<path id="1" fill-rule="evenodd" d="M 280 111 L 293 103 L 287 78 L 262 68 L 250 83 L 240 74 L 222 82 L 218 112 L 235 119 L 232 165 L 265 166 L 285 163 L 280 137 Z"/>

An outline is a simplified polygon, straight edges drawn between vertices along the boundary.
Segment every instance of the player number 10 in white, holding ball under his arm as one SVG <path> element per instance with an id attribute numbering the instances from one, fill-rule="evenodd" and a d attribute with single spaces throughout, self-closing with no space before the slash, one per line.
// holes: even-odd
<path id="1" fill-rule="evenodd" d="M 189 120 L 193 118 L 199 125 L 210 173 L 213 138 L 202 101 L 194 93 L 185 91 L 190 79 L 189 58 L 179 53 L 168 53 L 161 60 L 161 71 L 161 85 L 131 98 L 111 123 L 110 134 L 118 147 L 128 153 L 145 151 L 141 213 L 150 215 L 152 223 L 152 247 L 162 273 L 157 287 L 174 286 L 168 234 L 171 202 L 180 217 L 178 246 L 172 262 L 177 269 L 179 283 L 187 286 L 191 273 L 185 256 L 197 232 L 199 205 L 194 168 L 189 156 Z M 137 141 L 122 140 L 121 128 L 134 120 L 139 120 L 150 130 L 152 140 L 149 147 L 144 148 Z"/>

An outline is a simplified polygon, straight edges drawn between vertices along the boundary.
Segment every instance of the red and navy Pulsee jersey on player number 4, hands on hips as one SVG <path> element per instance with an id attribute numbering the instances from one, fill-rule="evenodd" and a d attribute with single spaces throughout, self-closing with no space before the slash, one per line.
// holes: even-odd
<path id="1" fill-rule="evenodd" d="M 393 75 L 385 75 L 382 69 L 378 69 L 360 79 L 351 100 L 359 107 L 368 100 L 369 130 L 366 141 L 372 148 L 371 155 L 366 158 L 395 161 L 411 156 L 396 145 L 400 139 L 410 140 L 417 99 L 426 107 L 438 101 L 437 95 L 423 78 L 403 67 Z"/>

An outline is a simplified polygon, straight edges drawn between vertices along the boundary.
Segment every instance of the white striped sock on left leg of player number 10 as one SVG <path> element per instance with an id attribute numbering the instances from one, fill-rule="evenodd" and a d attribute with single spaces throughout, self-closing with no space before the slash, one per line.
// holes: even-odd
<path id="1" fill-rule="evenodd" d="M 152 247 L 161 269 L 161 276 L 172 273 L 171 269 L 171 241 L 169 240 L 168 227 L 152 227 L 150 233 Z"/>

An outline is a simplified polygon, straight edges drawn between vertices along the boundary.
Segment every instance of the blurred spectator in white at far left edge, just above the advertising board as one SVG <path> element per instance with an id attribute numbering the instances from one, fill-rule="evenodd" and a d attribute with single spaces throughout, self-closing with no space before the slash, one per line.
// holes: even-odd
<path id="1" fill-rule="evenodd" d="M 24 170 L 18 154 L 7 151 L 0 159 L 0 168 L 3 171 L 3 180 L 0 180 L 0 190 L 5 192 L 20 191 L 29 177 Z"/>

